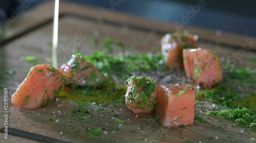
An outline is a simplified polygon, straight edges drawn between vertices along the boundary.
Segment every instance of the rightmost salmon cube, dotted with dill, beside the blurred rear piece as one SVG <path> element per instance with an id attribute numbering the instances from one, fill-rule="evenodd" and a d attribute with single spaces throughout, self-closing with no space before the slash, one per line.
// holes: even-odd
<path id="1" fill-rule="evenodd" d="M 222 81 L 220 58 L 210 50 L 183 49 L 184 68 L 186 76 L 194 85 L 202 89 L 211 89 Z"/>

